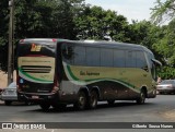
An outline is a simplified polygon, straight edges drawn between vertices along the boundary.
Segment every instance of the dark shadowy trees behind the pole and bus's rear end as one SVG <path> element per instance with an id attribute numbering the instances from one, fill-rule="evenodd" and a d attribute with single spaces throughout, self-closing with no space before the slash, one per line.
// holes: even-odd
<path id="1" fill-rule="evenodd" d="M 14 44 L 22 38 L 74 39 L 73 17 L 84 0 L 15 0 Z M 9 1 L 0 1 L 0 69 L 7 71 Z"/>

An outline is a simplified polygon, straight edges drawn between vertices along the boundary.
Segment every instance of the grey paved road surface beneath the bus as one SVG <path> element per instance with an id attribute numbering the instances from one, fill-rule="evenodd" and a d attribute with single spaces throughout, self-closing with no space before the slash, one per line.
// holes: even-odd
<path id="1" fill-rule="evenodd" d="M 77 111 L 69 106 L 65 111 L 50 109 L 48 112 L 40 110 L 39 106 L 24 106 L 13 104 L 4 106 L 0 103 L 0 122 L 175 122 L 175 96 L 159 95 L 154 99 L 147 99 L 145 105 L 136 105 L 133 101 L 116 101 L 113 107 L 107 103 L 100 103 L 97 109 Z M 77 124 L 78 125 L 78 124 Z M 1 130 L 4 131 L 5 130 Z M 79 130 L 46 130 L 46 132 L 77 132 Z M 93 130 L 83 130 L 92 132 Z M 94 130 L 95 131 L 95 130 Z M 102 131 L 102 130 L 98 130 Z M 112 130 L 110 131 L 116 131 Z M 122 132 L 124 129 L 117 130 Z M 125 130 L 126 131 L 149 131 L 149 130 Z M 151 130 L 156 132 L 160 130 Z M 174 130 L 161 130 L 173 132 Z M 81 131 L 82 132 L 82 131 Z M 95 131 L 96 132 L 96 131 Z"/>

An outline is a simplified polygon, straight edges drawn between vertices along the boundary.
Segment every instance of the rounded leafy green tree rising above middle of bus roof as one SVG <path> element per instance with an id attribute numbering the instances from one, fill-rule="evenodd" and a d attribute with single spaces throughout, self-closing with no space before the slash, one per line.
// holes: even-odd
<path id="1" fill-rule="evenodd" d="M 104 39 L 109 35 L 114 40 L 127 41 L 125 29 L 127 19 L 115 11 L 86 5 L 74 19 L 75 31 L 83 39 Z"/>

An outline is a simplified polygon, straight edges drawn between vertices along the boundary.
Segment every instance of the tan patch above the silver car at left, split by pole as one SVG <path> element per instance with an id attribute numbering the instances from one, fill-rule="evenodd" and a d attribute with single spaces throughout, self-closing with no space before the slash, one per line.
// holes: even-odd
<path id="1" fill-rule="evenodd" d="M 13 72 L 13 81 L 16 80 L 16 73 Z M 0 70 L 0 88 L 4 88 L 8 85 L 8 74 Z"/>

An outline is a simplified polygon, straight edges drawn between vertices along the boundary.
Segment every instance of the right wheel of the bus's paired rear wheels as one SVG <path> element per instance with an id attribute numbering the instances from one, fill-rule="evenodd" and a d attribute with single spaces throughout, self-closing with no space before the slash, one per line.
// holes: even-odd
<path id="1" fill-rule="evenodd" d="M 98 96 L 97 96 L 96 91 L 92 91 L 90 93 L 90 99 L 89 99 L 89 108 L 90 109 L 95 109 L 96 108 L 96 106 L 97 106 L 97 98 L 98 98 Z"/>

